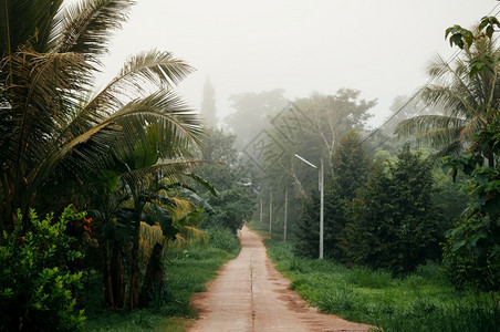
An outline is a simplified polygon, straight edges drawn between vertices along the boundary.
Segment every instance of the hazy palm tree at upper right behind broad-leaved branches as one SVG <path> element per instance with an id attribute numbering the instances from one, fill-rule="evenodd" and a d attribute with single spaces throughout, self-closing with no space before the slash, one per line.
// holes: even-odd
<path id="1" fill-rule="evenodd" d="M 498 80 L 500 49 L 494 40 L 476 30 L 477 42 L 463 48 L 454 63 L 438 56 L 428 69 L 435 82 L 421 90 L 421 98 L 440 114 L 419 115 L 396 127 L 398 136 L 415 135 L 417 142 L 438 149 L 437 155 L 459 155 L 472 145 L 472 136 L 489 121 L 487 110 L 493 110 L 500 98 Z M 471 73 L 477 61 L 488 70 Z M 490 158 L 488 152 L 485 157 Z"/>

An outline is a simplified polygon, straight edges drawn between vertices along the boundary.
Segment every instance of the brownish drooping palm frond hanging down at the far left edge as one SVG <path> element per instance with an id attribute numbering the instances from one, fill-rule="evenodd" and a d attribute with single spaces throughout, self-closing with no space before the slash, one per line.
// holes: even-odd
<path id="1" fill-rule="evenodd" d="M 10 64 L 13 64 L 13 84 L 6 87 L 11 96 L 8 148 L 9 155 L 17 159 L 14 167 L 20 167 L 20 160 L 24 165 L 38 163 L 51 138 L 71 116 L 76 103 L 74 90 L 85 80 L 81 72 L 86 64 L 77 54 L 41 54 L 31 49 L 2 61 L 2 68 Z"/>

